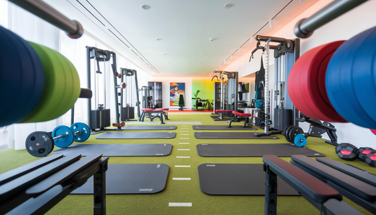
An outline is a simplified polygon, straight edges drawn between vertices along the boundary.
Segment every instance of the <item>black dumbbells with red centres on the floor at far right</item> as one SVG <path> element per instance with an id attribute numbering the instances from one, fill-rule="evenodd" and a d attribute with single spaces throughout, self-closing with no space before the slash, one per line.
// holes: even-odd
<path id="1" fill-rule="evenodd" d="M 340 143 L 335 148 L 335 153 L 341 159 L 351 161 L 359 158 L 371 167 L 376 167 L 376 151 L 373 148 L 356 148 L 355 145 L 352 145 L 350 143 Z"/>

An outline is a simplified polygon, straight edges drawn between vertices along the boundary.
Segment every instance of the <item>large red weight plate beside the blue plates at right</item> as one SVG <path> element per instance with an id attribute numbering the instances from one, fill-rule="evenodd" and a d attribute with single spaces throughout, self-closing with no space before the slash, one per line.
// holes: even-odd
<path id="1" fill-rule="evenodd" d="M 330 104 L 325 89 L 325 74 L 330 57 L 343 42 L 335 41 L 312 48 L 292 66 L 287 90 L 295 107 L 307 117 L 346 122 Z"/>

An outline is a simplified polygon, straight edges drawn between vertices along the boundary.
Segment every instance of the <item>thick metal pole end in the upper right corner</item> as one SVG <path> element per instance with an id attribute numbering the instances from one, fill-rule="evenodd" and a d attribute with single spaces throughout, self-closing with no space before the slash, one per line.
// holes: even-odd
<path id="1" fill-rule="evenodd" d="M 365 1 L 368 0 L 332 1 L 332 3 L 328 4 L 328 6 L 325 6 L 325 8 L 322 8 L 317 13 L 311 15 L 311 17 L 297 22 L 297 25 L 295 25 L 294 28 L 294 33 L 297 35 L 297 37 L 308 38 L 313 34 L 314 30 L 339 17 L 339 15 L 350 11 L 352 8 L 363 4 Z"/>

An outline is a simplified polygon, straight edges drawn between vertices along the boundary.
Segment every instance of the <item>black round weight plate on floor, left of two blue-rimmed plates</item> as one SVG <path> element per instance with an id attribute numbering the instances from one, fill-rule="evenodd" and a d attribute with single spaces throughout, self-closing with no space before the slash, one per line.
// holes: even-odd
<path id="1" fill-rule="evenodd" d="M 44 157 L 52 152 L 55 144 L 49 133 L 35 131 L 27 136 L 25 146 L 30 155 L 34 157 Z"/>

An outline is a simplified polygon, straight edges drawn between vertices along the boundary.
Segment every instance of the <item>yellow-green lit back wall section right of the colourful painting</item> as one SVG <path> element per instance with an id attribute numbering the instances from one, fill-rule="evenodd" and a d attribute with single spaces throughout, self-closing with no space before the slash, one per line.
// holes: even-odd
<path id="1" fill-rule="evenodd" d="M 208 79 L 192 79 L 192 98 L 195 98 L 193 93 L 196 93 L 197 90 L 200 90 L 198 93 L 198 98 L 203 100 L 210 100 L 210 103 L 213 103 L 214 99 L 214 81 L 212 82 L 211 78 Z M 195 105 L 195 100 L 192 99 L 192 108 Z"/>

